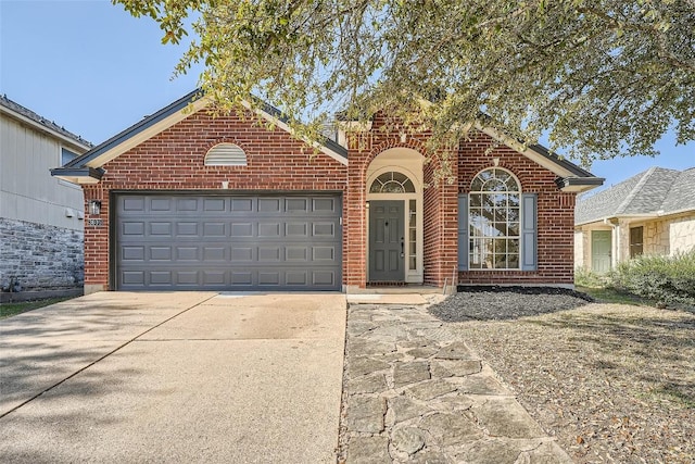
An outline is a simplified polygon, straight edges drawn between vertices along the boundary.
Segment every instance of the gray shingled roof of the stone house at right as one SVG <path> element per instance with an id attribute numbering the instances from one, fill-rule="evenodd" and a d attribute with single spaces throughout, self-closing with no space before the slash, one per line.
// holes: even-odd
<path id="1" fill-rule="evenodd" d="M 587 199 L 579 200 L 574 224 L 608 217 L 665 215 L 695 210 L 695 167 L 650 167 Z"/>

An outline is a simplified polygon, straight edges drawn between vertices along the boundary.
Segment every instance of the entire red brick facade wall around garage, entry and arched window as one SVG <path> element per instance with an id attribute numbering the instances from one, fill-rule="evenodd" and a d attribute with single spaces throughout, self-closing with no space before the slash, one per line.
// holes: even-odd
<path id="1" fill-rule="evenodd" d="M 312 190 L 343 192 L 343 284 L 366 284 L 366 185 L 369 163 L 379 153 L 394 147 L 406 147 L 426 153 L 428 134 L 408 135 L 381 130 L 382 115 L 377 115 L 370 134 L 359 147 L 349 150 L 350 166 L 312 150 L 281 129 L 267 131 L 236 116 L 213 118 L 204 112 L 144 141 L 104 165 L 106 174 L 100 184 L 85 186 L 85 201 L 102 202 L 101 227 L 85 224 L 85 284 L 109 289 L 109 218 L 112 190 L 218 191 L 222 181 L 230 190 Z M 248 166 L 204 166 L 210 148 L 219 142 L 240 146 L 248 155 Z M 555 175 L 511 149 L 501 147 L 485 155 L 491 139 L 479 136 L 463 142 L 452 172 L 457 183 L 434 185 L 437 161 L 425 165 L 424 262 L 425 283 L 442 286 L 456 273 L 457 265 L 457 195 L 468 192 L 472 177 L 492 166 L 511 171 L 525 192 L 539 198 L 539 268 L 536 272 L 465 272 L 462 284 L 571 284 L 573 256 L 574 196 L 561 193 L 554 184 Z M 87 218 L 90 218 L 88 215 Z"/>

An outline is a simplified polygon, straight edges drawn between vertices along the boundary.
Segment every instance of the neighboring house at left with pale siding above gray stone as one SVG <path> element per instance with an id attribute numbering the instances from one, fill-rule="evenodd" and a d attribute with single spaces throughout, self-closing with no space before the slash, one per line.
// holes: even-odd
<path id="1" fill-rule="evenodd" d="M 0 301 L 79 292 L 83 192 L 49 168 L 91 145 L 4 96 L 0 116 Z"/>

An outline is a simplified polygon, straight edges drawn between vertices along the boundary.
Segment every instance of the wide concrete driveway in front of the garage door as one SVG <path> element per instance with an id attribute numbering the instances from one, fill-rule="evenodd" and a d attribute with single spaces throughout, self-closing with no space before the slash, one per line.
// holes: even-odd
<path id="1" fill-rule="evenodd" d="M 0 462 L 333 463 L 345 314 L 101 292 L 0 321 Z"/>

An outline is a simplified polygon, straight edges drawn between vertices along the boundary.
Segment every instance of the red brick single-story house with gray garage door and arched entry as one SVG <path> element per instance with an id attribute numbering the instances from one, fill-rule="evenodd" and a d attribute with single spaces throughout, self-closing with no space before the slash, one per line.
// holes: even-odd
<path id="1" fill-rule="evenodd" d="M 267 131 L 198 95 L 52 171 L 94 206 L 86 292 L 573 285 L 574 198 L 603 179 L 545 149 L 486 154 L 518 143 L 481 128 L 435 185 L 427 134 L 387 133 L 381 114 L 312 155 L 277 110 Z"/>

